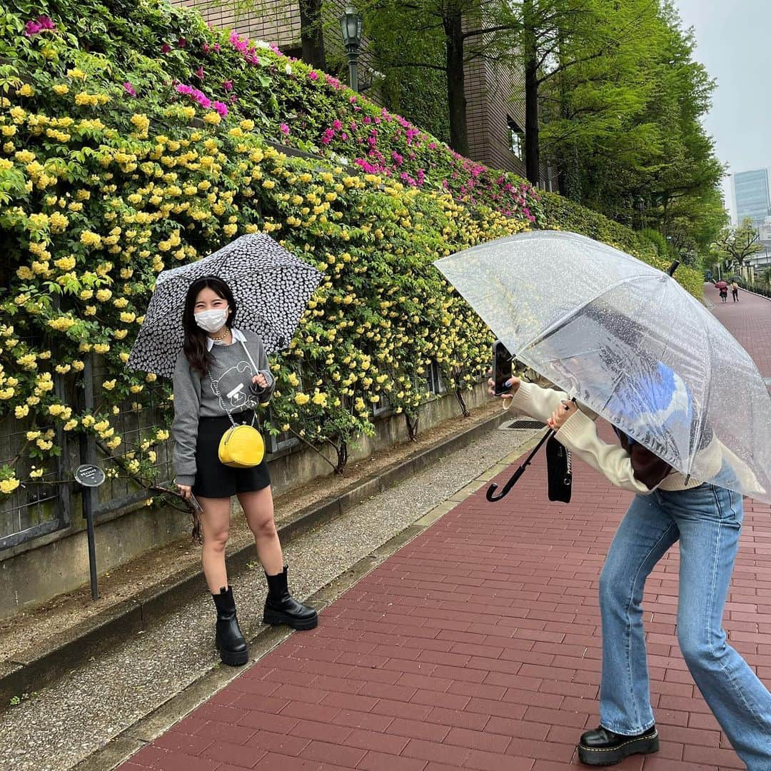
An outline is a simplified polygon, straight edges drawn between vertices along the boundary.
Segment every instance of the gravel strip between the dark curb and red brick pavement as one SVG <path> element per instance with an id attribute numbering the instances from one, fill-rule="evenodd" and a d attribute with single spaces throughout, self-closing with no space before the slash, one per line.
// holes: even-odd
<path id="1" fill-rule="evenodd" d="M 493 430 L 463 453 L 288 544 L 293 593 L 307 597 L 322 588 L 534 434 Z M 251 638 L 261 626 L 265 596 L 256 556 L 254 569 L 234 579 L 234 593 L 241 628 Z M 213 628 L 202 579 L 200 594 L 166 621 L 108 655 L 73 662 L 69 675 L 0 715 L 0 768 L 72 768 L 217 665 Z"/>

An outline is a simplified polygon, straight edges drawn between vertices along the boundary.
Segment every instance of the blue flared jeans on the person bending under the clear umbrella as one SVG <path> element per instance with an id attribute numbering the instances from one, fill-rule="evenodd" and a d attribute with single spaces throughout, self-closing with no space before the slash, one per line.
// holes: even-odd
<path id="1" fill-rule="evenodd" d="M 654 724 L 642 594 L 648 574 L 679 540 L 677 635 L 683 658 L 748 771 L 771 771 L 771 694 L 722 628 L 742 516 L 741 496 L 710 484 L 635 497 L 600 577 L 600 722 L 625 735 Z"/>

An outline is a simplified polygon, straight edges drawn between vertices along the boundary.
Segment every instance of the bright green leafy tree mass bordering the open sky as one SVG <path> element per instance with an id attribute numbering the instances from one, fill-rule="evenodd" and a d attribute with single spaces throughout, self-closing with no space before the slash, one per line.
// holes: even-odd
<path id="1" fill-rule="evenodd" d="M 702 126 L 714 83 L 693 61 L 692 32 L 671 5 L 648 8 L 608 19 L 619 38 L 639 19 L 642 39 L 627 39 L 615 56 L 591 59 L 581 39 L 564 39 L 575 63 L 543 89 L 543 146 L 568 197 L 653 227 L 681 256 L 695 255 L 726 225 L 724 168 Z"/>

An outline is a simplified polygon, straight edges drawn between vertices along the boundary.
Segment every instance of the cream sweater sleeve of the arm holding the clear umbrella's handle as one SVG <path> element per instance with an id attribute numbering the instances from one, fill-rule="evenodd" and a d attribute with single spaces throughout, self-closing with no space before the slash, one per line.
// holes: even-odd
<path id="1" fill-rule="evenodd" d="M 603 473 L 616 487 L 642 495 L 651 493 L 651 488 L 635 476 L 629 453 L 623 447 L 603 442 L 594 420 L 580 410 L 563 423 L 555 436 L 571 453 Z"/>

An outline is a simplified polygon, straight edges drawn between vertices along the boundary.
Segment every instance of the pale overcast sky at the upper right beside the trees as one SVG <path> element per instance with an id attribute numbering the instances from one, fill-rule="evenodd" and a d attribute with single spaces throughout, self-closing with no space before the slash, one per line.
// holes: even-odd
<path id="1" fill-rule="evenodd" d="M 717 81 L 706 130 L 729 172 L 771 167 L 771 0 L 674 0 Z M 723 183 L 732 207 L 731 180 Z M 736 213 L 733 213 L 736 217 Z"/>

